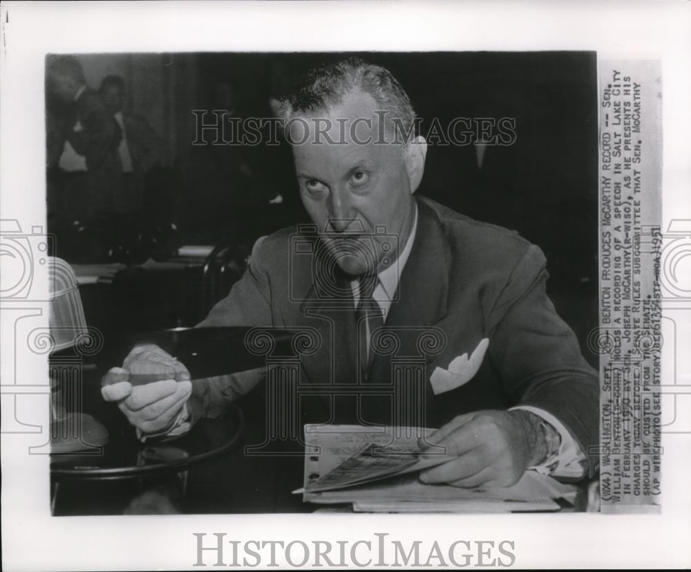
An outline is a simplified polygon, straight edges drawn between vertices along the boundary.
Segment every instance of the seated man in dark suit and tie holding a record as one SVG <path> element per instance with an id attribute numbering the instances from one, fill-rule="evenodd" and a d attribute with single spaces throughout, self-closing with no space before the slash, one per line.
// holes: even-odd
<path id="1" fill-rule="evenodd" d="M 515 232 L 415 197 L 427 147 L 397 80 L 348 59 L 307 74 L 281 114 L 320 254 L 291 252 L 296 229 L 259 239 L 244 277 L 200 325 L 314 327 L 324 343 L 301 367 L 317 385 L 391 383 L 375 336 L 390 331 L 406 347 L 408 331 L 442 331 L 446 345 L 430 358 L 423 392 L 426 423 L 439 430 L 424 446 L 455 458 L 423 481 L 507 486 L 531 467 L 594 474 L 598 378 L 545 293 L 545 258 Z M 329 314 L 335 306 L 320 286 L 329 280 L 349 311 Z M 153 363 L 171 379 L 115 382 Z M 104 398 L 144 433 L 184 430 L 216 400 L 247 391 L 238 380 L 192 385 L 183 365 L 152 346 L 133 349 L 108 376 Z M 381 399 L 362 395 L 356 421 L 390 422 Z M 327 421 L 325 409 L 304 421 Z"/>

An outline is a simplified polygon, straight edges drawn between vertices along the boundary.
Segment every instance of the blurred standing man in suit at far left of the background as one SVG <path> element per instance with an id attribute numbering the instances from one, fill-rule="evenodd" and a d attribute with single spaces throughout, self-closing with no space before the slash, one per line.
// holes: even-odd
<path id="1" fill-rule="evenodd" d="M 48 228 L 62 256 L 104 260 L 115 242 L 120 128 L 71 55 L 46 57 Z"/>

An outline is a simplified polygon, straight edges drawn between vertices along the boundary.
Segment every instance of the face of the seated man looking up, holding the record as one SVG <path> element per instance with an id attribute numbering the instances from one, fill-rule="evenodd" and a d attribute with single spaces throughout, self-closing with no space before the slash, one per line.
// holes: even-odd
<path id="1" fill-rule="evenodd" d="M 305 209 L 330 255 L 352 276 L 378 273 L 392 264 L 415 216 L 413 192 L 419 179 L 411 185 L 410 178 L 415 158 L 403 145 L 381 142 L 377 110 L 370 95 L 351 93 L 319 116 L 293 122 L 290 130 Z M 377 233 L 381 228 L 389 237 Z M 391 241 L 392 234 L 397 241 Z M 386 250 L 384 243 L 392 248 Z"/>

